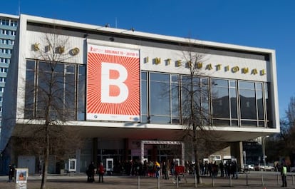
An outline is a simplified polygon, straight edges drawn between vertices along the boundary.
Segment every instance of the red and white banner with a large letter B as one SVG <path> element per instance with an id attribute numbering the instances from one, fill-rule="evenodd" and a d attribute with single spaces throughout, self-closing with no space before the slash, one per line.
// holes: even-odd
<path id="1" fill-rule="evenodd" d="M 139 51 L 88 44 L 86 117 L 140 121 Z"/>

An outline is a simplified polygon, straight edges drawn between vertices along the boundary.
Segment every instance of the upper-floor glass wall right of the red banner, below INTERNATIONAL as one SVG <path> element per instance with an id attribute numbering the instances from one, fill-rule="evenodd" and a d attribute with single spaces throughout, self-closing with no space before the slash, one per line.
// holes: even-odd
<path id="1" fill-rule="evenodd" d="M 199 124 L 203 126 L 273 128 L 268 116 L 267 86 L 254 81 L 143 71 L 142 122 L 187 124 L 192 96 Z"/>

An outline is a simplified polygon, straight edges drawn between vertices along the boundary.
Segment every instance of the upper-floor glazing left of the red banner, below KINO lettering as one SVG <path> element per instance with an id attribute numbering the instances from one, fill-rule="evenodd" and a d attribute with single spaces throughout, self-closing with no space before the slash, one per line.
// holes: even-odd
<path id="1" fill-rule="evenodd" d="M 25 118 L 85 120 L 85 66 L 28 60 L 25 99 Z"/>

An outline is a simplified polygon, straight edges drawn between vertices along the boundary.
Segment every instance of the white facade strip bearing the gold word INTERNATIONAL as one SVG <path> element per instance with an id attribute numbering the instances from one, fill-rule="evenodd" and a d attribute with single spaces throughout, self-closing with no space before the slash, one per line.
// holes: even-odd
<path id="1" fill-rule="evenodd" d="M 160 71 L 165 73 L 190 74 L 190 69 L 185 60 L 188 57 L 183 51 L 168 50 L 164 48 L 140 48 L 141 70 Z M 199 53 L 196 53 L 199 55 Z M 239 58 L 233 56 L 219 56 L 214 54 L 201 54 L 202 68 L 200 75 L 232 78 L 249 81 L 267 81 L 267 74 L 270 74 L 269 61 L 256 60 L 252 58 Z M 147 60 L 148 57 L 148 61 Z M 155 63 L 155 58 L 160 58 L 160 63 Z M 168 63 L 170 59 L 170 63 Z M 176 61 L 181 61 L 181 66 L 176 66 Z"/>

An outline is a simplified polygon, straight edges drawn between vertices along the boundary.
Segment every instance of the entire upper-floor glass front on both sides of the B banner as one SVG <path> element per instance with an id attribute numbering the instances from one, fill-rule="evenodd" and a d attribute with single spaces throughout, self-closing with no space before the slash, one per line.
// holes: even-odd
<path id="1" fill-rule="evenodd" d="M 48 85 L 43 80 L 51 76 L 49 65 L 46 61 L 27 60 L 25 118 L 41 116 L 44 107 L 40 88 Z M 67 109 L 68 119 L 85 121 L 85 65 L 56 63 L 53 75 L 58 83 L 56 93 L 61 97 L 56 110 Z M 190 80 L 185 75 L 142 71 L 141 122 L 187 124 L 192 86 L 195 113 L 203 126 L 274 127 L 269 116 L 268 83 L 201 76 Z M 58 114 L 52 110 L 51 116 Z"/>

